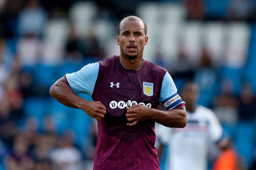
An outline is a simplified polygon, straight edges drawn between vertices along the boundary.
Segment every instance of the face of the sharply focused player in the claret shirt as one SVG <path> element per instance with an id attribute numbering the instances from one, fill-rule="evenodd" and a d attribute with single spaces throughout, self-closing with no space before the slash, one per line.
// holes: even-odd
<path id="1" fill-rule="evenodd" d="M 143 54 L 148 37 L 145 36 L 144 25 L 141 20 L 124 20 L 120 25 L 117 44 L 120 45 L 122 55 L 128 59 L 135 59 Z"/>

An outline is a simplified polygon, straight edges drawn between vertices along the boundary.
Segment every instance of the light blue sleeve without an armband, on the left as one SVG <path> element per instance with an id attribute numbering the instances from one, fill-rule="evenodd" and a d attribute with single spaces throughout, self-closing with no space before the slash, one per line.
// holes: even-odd
<path id="1" fill-rule="evenodd" d="M 66 74 L 68 84 L 75 93 L 85 93 L 92 96 L 99 73 L 99 63 L 84 66 L 81 70 Z"/>

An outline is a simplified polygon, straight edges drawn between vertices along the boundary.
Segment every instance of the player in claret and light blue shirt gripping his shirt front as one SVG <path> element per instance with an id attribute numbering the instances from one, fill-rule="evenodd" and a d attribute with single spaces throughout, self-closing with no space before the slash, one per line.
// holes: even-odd
<path id="1" fill-rule="evenodd" d="M 146 33 L 142 19 L 122 19 L 117 36 L 120 56 L 66 74 L 50 89 L 60 103 L 97 119 L 94 170 L 159 170 L 155 122 L 168 127 L 186 125 L 185 104 L 170 74 L 143 59 Z M 76 93 L 86 93 L 93 101 Z M 167 111 L 157 110 L 160 103 Z"/>

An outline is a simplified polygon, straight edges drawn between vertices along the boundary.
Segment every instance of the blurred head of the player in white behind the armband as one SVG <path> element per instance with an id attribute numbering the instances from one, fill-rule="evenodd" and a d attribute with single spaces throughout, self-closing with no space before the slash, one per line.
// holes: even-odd
<path id="1" fill-rule="evenodd" d="M 181 98 L 186 105 L 195 106 L 199 97 L 199 87 L 197 84 L 189 84 L 181 92 Z"/>

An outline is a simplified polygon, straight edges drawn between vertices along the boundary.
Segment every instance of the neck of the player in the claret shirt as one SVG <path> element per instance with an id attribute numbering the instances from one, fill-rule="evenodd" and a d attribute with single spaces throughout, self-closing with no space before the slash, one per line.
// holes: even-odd
<path id="1" fill-rule="evenodd" d="M 142 56 L 136 59 L 128 59 L 126 56 L 120 54 L 120 62 L 128 70 L 138 70 L 142 64 Z"/>

